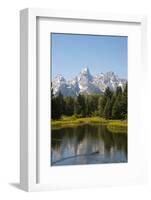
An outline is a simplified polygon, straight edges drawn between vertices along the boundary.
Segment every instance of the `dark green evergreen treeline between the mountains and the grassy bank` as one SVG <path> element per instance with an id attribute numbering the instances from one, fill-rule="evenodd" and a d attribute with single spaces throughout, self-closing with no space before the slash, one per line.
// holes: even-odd
<path id="1" fill-rule="evenodd" d="M 122 91 L 117 87 L 113 92 L 106 88 L 104 94 L 83 95 L 77 97 L 54 96 L 51 91 L 51 117 L 60 119 L 63 115 L 76 117 L 100 116 L 106 119 L 127 119 L 127 84 Z"/>

